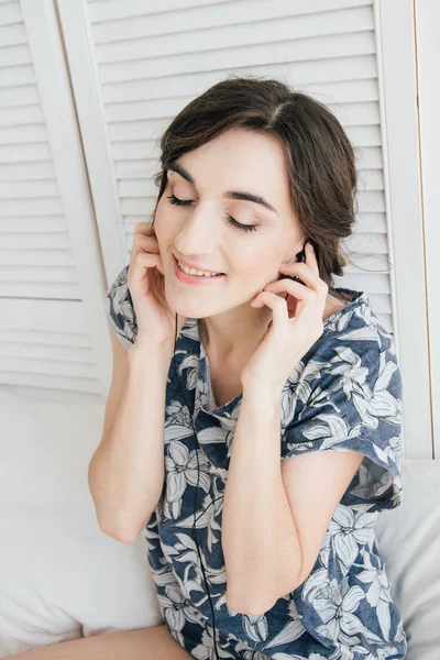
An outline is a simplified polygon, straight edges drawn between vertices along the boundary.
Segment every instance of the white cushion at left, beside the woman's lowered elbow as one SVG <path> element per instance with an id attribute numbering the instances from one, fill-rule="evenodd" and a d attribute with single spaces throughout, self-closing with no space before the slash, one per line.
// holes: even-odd
<path id="1" fill-rule="evenodd" d="M 103 413 L 0 391 L 0 658 L 163 623 L 144 536 L 121 543 L 96 519 Z"/>

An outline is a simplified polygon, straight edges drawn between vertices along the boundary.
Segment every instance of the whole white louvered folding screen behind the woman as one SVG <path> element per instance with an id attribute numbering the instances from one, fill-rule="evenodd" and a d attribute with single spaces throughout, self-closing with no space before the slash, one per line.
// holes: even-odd
<path id="1" fill-rule="evenodd" d="M 3 383 L 106 398 L 105 294 L 153 209 L 158 140 L 208 87 L 256 74 L 327 103 L 355 147 L 336 284 L 394 333 L 407 455 L 432 454 L 413 0 L 0 0 L 0 38 Z"/>

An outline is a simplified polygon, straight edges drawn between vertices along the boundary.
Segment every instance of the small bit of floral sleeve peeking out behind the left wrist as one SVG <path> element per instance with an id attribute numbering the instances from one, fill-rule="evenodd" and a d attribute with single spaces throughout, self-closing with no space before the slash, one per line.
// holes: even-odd
<path id="1" fill-rule="evenodd" d="M 106 295 L 107 315 L 110 324 L 127 350 L 133 345 L 138 336 L 136 315 L 127 282 L 129 266 L 130 264 L 124 266 L 117 275 Z"/>

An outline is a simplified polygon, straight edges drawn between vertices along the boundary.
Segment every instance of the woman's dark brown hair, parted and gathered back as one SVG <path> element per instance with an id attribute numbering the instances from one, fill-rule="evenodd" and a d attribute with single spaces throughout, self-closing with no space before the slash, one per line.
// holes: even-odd
<path id="1" fill-rule="evenodd" d="M 154 177 L 160 190 L 151 216 L 153 223 L 166 187 L 168 164 L 229 129 L 278 138 L 293 208 L 305 237 L 318 248 L 320 277 L 334 290 L 332 275 L 342 275 L 346 265 L 340 239 L 352 233 L 355 221 L 354 150 L 341 123 L 323 103 L 280 80 L 231 76 L 180 110 L 161 139 L 162 169 Z"/>

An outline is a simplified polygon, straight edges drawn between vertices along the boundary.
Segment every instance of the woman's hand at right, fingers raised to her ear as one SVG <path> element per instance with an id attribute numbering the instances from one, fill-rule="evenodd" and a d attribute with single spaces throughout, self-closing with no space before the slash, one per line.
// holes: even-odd
<path id="1" fill-rule="evenodd" d="M 323 332 L 322 316 L 329 287 L 319 277 L 311 243 L 307 243 L 305 262 L 294 262 L 279 270 L 286 275 L 298 275 L 304 284 L 288 278 L 271 282 L 251 302 L 252 307 L 271 307 L 273 323 L 241 372 L 246 389 L 282 394 L 292 371 Z M 279 293 L 284 296 L 278 296 Z M 286 293 L 296 298 L 293 306 L 285 299 Z M 293 310 L 290 317 L 289 309 Z"/>

